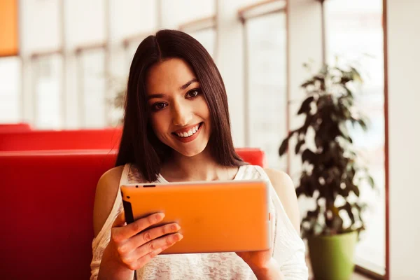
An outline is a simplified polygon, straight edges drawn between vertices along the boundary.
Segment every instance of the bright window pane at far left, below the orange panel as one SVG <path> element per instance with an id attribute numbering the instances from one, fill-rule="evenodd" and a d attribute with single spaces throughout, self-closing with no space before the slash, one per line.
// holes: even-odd
<path id="1" fill-rule="evenodd" d="M 20 120 L 19 57 L 0 58 L 0 123 L 17 123 Z"/>

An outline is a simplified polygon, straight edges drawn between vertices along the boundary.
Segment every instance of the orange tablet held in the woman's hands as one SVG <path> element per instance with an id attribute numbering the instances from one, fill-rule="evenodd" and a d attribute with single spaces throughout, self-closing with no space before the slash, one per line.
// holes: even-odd
<path id="1" fill-rule="evenodd" d="M 270 248 L 265 181 L 213 181 L 121 186 L 127 223 L 156 212 L 179 223 L 183 239 L 163 253 L 260 251 Z M 157 225 L 158 226 L 158 225 Z"/>

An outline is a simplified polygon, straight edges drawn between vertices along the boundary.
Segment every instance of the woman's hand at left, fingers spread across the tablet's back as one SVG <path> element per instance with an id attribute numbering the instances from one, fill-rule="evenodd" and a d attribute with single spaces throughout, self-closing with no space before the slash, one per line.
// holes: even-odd
<path id="1" fill-rule="evenodd" d="M 126 225 L 124 212 L 120 213 L 112 225 L 111 239 L 105 248 L 102 262 L 119 271 L 137 270 L 180 241 L 183 236 L 177 233 L 181 228 L 176 223 L 146 230 L 151 225 L 160 223 L 164 217 L 165 214 L 162 213 L 152 214 Z"/>

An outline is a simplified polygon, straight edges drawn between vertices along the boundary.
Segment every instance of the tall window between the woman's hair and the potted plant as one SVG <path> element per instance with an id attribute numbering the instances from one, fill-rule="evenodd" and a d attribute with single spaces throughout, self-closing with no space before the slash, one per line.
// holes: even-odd
<path id="1" fill-rule="evenodd" d="M 273 28 L 276 27 L 276 28 Z M 279 146 L 287 136 L 286 14 L 246 20 L 248 146 L 262 148 L 269 167 L 286 170 Z"/>

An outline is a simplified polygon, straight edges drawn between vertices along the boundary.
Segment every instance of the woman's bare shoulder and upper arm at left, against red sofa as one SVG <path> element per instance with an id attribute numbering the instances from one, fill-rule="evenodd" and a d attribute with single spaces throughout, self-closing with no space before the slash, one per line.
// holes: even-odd
<path id="1" fill-rule="evenodd" d="M 113 167 L 102 174 L 94 195 L 93 229 L 96 237 L 108 218 L 120 188 L 124 166 Z"/>

